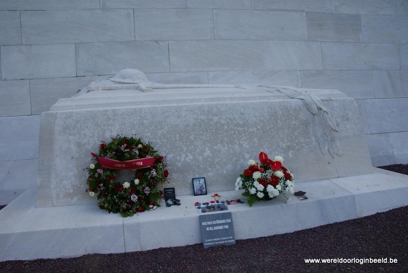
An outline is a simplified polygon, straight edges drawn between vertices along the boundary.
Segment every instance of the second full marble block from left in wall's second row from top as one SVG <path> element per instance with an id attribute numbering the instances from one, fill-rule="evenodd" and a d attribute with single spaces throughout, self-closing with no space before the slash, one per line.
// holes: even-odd
<path id="1" fill-rule="evenodd" d="M 135 9 L 136 40 L 213 40 L 209 9 Z"/>

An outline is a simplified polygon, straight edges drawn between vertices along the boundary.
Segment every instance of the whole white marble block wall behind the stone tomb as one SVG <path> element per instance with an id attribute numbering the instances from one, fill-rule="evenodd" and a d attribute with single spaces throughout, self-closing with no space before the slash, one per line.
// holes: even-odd
<path id="1" fill-rule="evenodd" d="M 35 185 L 37 115 L 127 67 L 163 83 L 340 89 L 373 164 L 408 163 L 407 0 L 2 0 L 0 203 Z"/>

